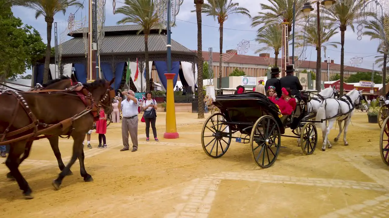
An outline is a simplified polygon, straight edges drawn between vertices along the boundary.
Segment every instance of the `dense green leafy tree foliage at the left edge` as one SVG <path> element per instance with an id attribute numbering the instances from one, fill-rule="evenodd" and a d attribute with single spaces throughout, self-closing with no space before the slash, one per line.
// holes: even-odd
<path id="1" fill-rule="evenodd" d="M 11 6 L 0 0 L 0 81 L 15 79 L 42 59 L 46 45 L 37 30 L 23 26 Z"/>

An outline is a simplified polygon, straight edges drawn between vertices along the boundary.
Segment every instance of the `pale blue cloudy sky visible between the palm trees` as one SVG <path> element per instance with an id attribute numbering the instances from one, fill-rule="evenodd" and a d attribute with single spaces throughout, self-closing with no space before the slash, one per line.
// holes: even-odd
<path id="1" fill-rule="evenodd" d="M 80 0 L 81 3 L 84 0 Z M 88 0 L 85 0 L 84 5 L 87 6 Z M 123 0 L 116 1 L 116 8 L 123 5 Z M 238 2 L 239 6 L 245 7 L 250 10 L 251 16 L 258 14 L 261 10 L 259 3 L 267 3 L 267 0 L 257 0 L 253 3 L 253 0 L 234 0 Z M 119 21 L 123 16 L 121 14 L 112 13 L 112 0 L 107 0 L 106 2 L 106 19 L 105 26 L 116 25 L 116 22 Z M 181 43 L 189 49 L 197 50 L 197 24 L 196 24 L 196 14 L 191 13 L 191 10 L 194 10 L 195 6 L 193 0 L 184 0 L 180 7 L 179 15 L 176 20 L 176 27 L 172 28 L 172 39 Z M 77 10 L 76 7 L 68 8 L 65 15 L 57 14 L 54 19 L 58 23 L 58 41 L 63 42 L 71 39 L 72 37 L 66 36 L 68 33 L 67 29 L 67 20 L 70 13 L 75 13 Z M 23 7 L 13 7 L 12 11 L 14 16 L 20 17 L 24 24 L 28 24 L 37 29 L 43 41 L 46 43 L 46 22 L 44 17 L 39 17 L 38 19 L 34 18 L 35 12 L 32 9 L 23 8 Z M 85 17 L 88 14 L 87 7 L 84 9 L 79 9 L 75 14 L 76 20 L 82 20 L 82 17 Z M 203 50 L 208 50 L 209 47 L 212 47 L 214 51 L 219 51 L 219 31 L 217 21 L 213 17 L 203 15 Z M 256 29 L 251 28 L 251 21 L 248 17 L 243 15 L 231 15 L 228 17 L 228 20 L 224 24 L 224 39 L 223 39 L 223 52 L 228 49 L 235 49 L 237 45 L 242 40 L 253 40 L 256 38 Z M 62 33 L 62 34 L 60 34 Z M 53 25 L 53 34 L 52 34 L 51 45 L 54 46 L 54 25 Z M 335 42 L 340 42 L 340 33 L 335 35 L 332 38 Z M 363 36 L 362 40 L 357 40 L 357 35 L 354 33 L 351 28 L 347 29 L 345 33 L 345 64 L 350 65 L 350 59 L 352 57 L 364 57 L 363 62 L 359 67 L 371 69 L 374 61 L 374 56 L 377 54 L 378 40 L 370 40 L 367 36 Z M 261 45 L 256 44 L 254 41 L 251 41 L 251 46 L 248 55 L 255 55 L 254 51 L 260 48 Z M 295 52 L 295 55 L 297 51 Z M 290 55 L 291 51 L 290 51 Z M 340 64 L 340 47 L 333 48 L 328 47 L 327 56 L 329 55 L 331 59 L 335 60 L 335 63 Z M 368 57 L 366 57 L 368 56 Z M 306 60 L 315 61 L 316 60 L 316 50 L 314 48 L 308 47 L 305 54 Z M 324 57 L 324 52 L 322 52 L 322 60 Z M 377 69 L 377 67 L 376 67 Z M 30 73 L 31 71 L 27 72 Z"/>

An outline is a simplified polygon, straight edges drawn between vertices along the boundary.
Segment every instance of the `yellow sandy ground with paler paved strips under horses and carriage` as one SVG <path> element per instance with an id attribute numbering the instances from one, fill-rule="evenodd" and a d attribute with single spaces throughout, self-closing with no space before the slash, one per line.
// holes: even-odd
<path id="1" fill-rule="evenodd" d="M 206 114 L 208 115 L 208 114 Z M 296 139 L 282 138 L 276 163 L 259 168 L 249 144 L 233 142 L 219 159 L 208 157 L 201 147 L 204 119 L 177 113 L 180 138 L 167 140 L 165 114 L 158 113 L 159 142 L 145 142 L 144 123 L 139 123 L 137 152 L 119 152 L 121 124 L 108 127 L 107 149 L 85 148 L 86 170 L 94 178 L 84 182 L 78 161 L 61 189 L 51 181 L 59 173 L 48 140 L 34 142 L 29 159 L 20 166 L 33 190 L 25 200 L 15 181 L 0 164 L 1 217 L 389 217 L 389 168 L 379 154 L 380 129 L 356 113 L 343 141 L 333 148 L 320 145 L 309 156 Z M 319 140 L 321 131 L 319 130 Z M 61 139 L 66 163 L 72 140 Z"/>

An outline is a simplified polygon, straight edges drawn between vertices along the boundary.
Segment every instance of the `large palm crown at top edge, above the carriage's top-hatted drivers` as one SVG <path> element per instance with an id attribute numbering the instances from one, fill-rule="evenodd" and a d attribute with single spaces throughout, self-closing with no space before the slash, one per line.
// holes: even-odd
<path id="1" fill-rule="evenodd" d="M 292 31 L 292 24 L 293 24 L 293 3 L 296 1 L 296 7 L 295 7 L 295 17 L 297 22 L 299 20 L 299 17 L 301 17 L 300 8 L 303 7 L 306 0 L 268 0 L 270 2 L 270 5 L 266 5 L 264 3 L 261 3 L 261 9 L 262 10 L 270 10 L 270 11 L 260 11 L 258 12 L 258 15 L 252 18 L 252 27 L 256 27 L 259 25 L 261 28 L 259 28 L 258 31 L 262 31 L 267 26 L 273 25 L 273 24 L 280 24 L 284 21 L 289 22 L 288 24 L 288 33 Z"/>

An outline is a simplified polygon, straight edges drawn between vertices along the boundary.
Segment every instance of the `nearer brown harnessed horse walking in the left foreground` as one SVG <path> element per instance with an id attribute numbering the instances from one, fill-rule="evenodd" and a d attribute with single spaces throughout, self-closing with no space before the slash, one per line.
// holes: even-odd
<path id="1" fill-rule="evenodd" d="M 100 102 L 103 105 L 106 113 L 110 113 L 112 111 L 111 102 L 115 96 L 114 90 L 110 87 L 113 81 L 114 79 L 110 82 L 96 80 L 93 83 L 83 84 L 93 99 L 89 95 L 82 98 L 82 96 L 80 97 L 72 92 L 25 92 L 18 93 L 18 95 L 3 93 L 0 95 L 0 102 L 7 102 L 8 106 L 4 107 L 4 111 L 0 114 L 0 132 L 4 132 L 10 123 L 12 125 L 9 131 L 12 132 L 29 126 L 33 121 L 37 121 L 35 122 L 37 123 L 36 128 L 34 126 L 32 129 L 23 131 L 23 133 L 7 139 L 12 140 L 12 138 L 18 138 L 40 130 L 44 130 L 44 132 L 38 132 L 39 134 L 36 133 L 34 136 L 41 134 L 52 136 L 70 135 L 74 140 L 73 154 L 70 162 L 61 171 L 58 178 L 53 181 L 53 186 L 57 190 L 60 189 L 63 178 L 68 175 L 70 167 L 77 158 L 80 162 L 81 176 L 84 177 L 84 181 L 93 181 L 92 176 L 85 170 L 82 141 L 84 140 L 85 133 L 93 125 L 96 114 L 92 114 L 90 110 L 86 110 L 86 105 L 88 105 L 88 101 L 89 103 L 93 103 L 91 100 L 95 100 L 95 102 Z M 22 105 L 23 107 L 20 107 L 18 103 L 20 100 L 24 104 L 24 106 Z M 50 102 L 50 104 L 47 104 L 47 102 Z M 95 108 L 96 103 L 92 105 Z M 14 112 L 16 116 L 10 116 Z M 97 108 L 94 109 L 94 112 L 98 114 Z M 56 125 L 58 123 L 61 124 L 59 128 Z M 18 182 L 20 189 L 23 190 L 23 195 L 27 198 L 32 198 L 32 190 L 18 169 L 20 163 L 19 157 L 25 151 L 27 140 L 18 139 L 18 141 L 11 143 L 11 149 L 5 164 L 11 171 L 11 175 Z"/>

